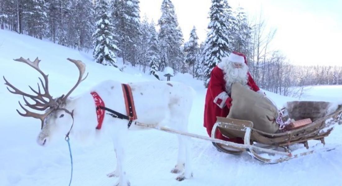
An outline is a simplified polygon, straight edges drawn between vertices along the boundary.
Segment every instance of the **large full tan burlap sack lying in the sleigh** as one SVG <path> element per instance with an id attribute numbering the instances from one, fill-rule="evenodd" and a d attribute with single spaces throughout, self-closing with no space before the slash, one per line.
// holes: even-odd
<path id="1" fill-rule="evenodd" d="M 235 83 L 231 97 L 233 101 L 228 118 L 252 121 L 253 128 L 267 133 L 278 130 L 277 107 L 266 96 Z"/>

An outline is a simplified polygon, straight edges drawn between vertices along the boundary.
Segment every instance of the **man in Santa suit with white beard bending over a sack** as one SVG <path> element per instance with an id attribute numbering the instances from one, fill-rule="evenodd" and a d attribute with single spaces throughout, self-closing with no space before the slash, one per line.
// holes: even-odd
<path id="1" fill-rule="evenodd" d="M 209 136 L 216 122 L 216 116 L 227 117 L 232 106 L 232 84 L 240 83 L 246 87 L 264 94 L 255 84 L 248 72 L 246 56 L 242 53 L 233 52 L 229 57 L 222 58 L 222 61 L 211 71 L 210 81 L 204 106 L 204 127 L 207 128 Z M 215 132 L 215 138 L 244 143 L 241 138 L 228 139 L 219 130 Z M 220 146 L 213 143 L 220 149 Z"/>

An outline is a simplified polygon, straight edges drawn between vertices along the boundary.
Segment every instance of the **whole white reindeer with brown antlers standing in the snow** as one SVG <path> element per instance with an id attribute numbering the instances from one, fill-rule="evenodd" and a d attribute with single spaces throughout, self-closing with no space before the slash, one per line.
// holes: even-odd
<path id="1" fill-rule="evenodd" d="M 54 138 L 64 138 L 66 133 L 73 135 L 95 135 L 97 132 L 97 115 L 95 103 L 91 92 L 95 91 L 102 98 L 107 108 L 126 114 L 126 105 L 124 102 L 121 83 L 116 81 L 104 81 L 90 91 L 69 98 L 71 92 L 79 85 L 82 79 L 85 65 L 79 60 L 69 59 L 75 63 L 79 69 L 79 78 L 76 85 L 64 96 L 53 99 L 49 94 L 48 76 L 39 69 L 38 58 L 31 62 L 29 59 L 15 59 L 28 64 L 36 69 L 44 78 L 45 84 L 40 79 L 44 94 L 38 85 L 38 91 L 32 89 L 36 95 L 26 94 L 13 85 L 5 78 L 5 84 L 13 90 L 8 90 L 13 94 L 23 95 L 26 106 L 34 110 L 45 111 L 44 114 L 33 113 L 24 108 L 20 102 L 20 106 L 26 111 L 25 114 L 18 113 L 22 116 L 38 118 L 42 121 L 41 131 L 38 135 L 37 142 L 42 146 L 46 146 L 50 140 Z M 86 76 L 87 77 L 87 76 Z M 130 83 L 132 96 L 134 99 L 137 121 L 140 123 L 153 124 L 154 126 L 164 126 L 177 130 L 186 131 L 188 117 L 192 107 L 194 90 L 181 83 L 176 82 L 143 82 Z M 32 104 L 25 97 L 30 98 Z M 122 142 L 127 140 L 125 133 L 128 130 L 142 129 L 142 127 L 131 125 L 128 129 L 128 120 L 114 118 L 105 114 L 101 130 L 108 130 L 113 139 L 114 150 L 116 152 L 117 166 L 115 171 L 107 174 L 108 177 L 119 177 L 117 185 L 130 185 L 126 175 L 126 165 L 124 161 L 124 146 Z M 179 153 L 175 167 L 172 173 L 180 173 L 176 180 L 182 181 L 192 177 L 192 169 L 189 156 L 189 148 L 187 139 L 178 135 Z"/>

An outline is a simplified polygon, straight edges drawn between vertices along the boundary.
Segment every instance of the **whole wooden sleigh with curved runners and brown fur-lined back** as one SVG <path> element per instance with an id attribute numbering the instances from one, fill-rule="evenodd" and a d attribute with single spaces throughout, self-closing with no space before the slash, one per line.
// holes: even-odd
<path id="1" fill-rule="evenodd" d="M 324 138 L 331 133 L 336 124 L 342 123 L 342 105 L 331 111 L 329 102 L 293 101 L 287 103 L 286 109 L 290 118 L 311 118 L 313 123 L 286 132 L 266 133 L 254 129 L 251 121 L 218 117 L 212 130 L 212 138 L 215 138 L 216 130 L 220 130 L 228 138 L 243 138 L 245 144 L 219 142 L 216 145 L 223 152 L 230 154 L 247 151 L 253 158 L 265 163 L 278 163 L 335 148 L 326 145 Z M 309 140 L 319 140 L 321 145 L 309 147 Z M 298 149 L 303 145 L 304 149 Z"/>

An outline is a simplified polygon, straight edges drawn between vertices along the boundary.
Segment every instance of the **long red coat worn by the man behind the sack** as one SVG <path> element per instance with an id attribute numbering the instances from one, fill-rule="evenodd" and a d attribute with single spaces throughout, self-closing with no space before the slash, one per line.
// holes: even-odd
<path id="1" fill-rule="evenodd" d="M 260 90 L 255 84 L 252 76 L 248 72 L 247 85 L 254 91 Z M 207 128 L 209 136 L 211 136 L 211 130 L 216 122 L 216 116 L 227 117 L 229 114 L 229 109 L 227 108 L 225 102 L 228 95 L 225 93 L 225 80 L 223 70 L 216 66 L 210 75 L 210 81 L 208 85 L 206 101 L 204 106 L 204 127 Z M 219 130 L 216 131 L 215 137 L 221 140 L 232 141 L 236 143 L 242 143 L 242 139 L 228 139 L 224 137 Z"/>

